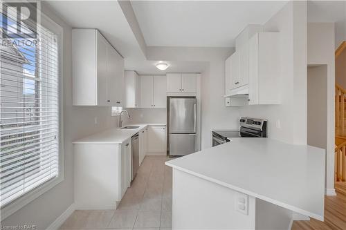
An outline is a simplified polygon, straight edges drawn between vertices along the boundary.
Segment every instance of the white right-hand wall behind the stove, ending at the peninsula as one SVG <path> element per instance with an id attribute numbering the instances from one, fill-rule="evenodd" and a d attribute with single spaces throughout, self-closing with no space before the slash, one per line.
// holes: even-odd
<path id="1" fill-rule="evenodd" d="M 268 137 L 293 144 L 307 143 L 306 3 L 286 3 L 264 24 L 264 31 L 280 32 L 282 104 L 244 106 L 240 115 L 268 119 Z M 280 126 L 276 126 L 280 123 Z"/>

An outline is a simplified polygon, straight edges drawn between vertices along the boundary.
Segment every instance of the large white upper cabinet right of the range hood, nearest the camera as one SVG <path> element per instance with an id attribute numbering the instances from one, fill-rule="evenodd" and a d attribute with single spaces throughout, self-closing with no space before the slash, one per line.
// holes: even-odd
<path id="1" fill-rule="evenodd" d="M 250 39 L 248 104 L 280 104 L 280 59 L 279 32 Z"/>

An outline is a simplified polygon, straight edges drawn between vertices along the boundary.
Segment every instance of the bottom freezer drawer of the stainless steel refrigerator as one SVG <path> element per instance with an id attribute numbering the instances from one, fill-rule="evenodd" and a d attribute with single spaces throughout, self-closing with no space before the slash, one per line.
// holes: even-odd
<path id="1" fill-rule="evenodd" d="M 170 155 L 196 152 L 196 134 L 170 134 Z"/>

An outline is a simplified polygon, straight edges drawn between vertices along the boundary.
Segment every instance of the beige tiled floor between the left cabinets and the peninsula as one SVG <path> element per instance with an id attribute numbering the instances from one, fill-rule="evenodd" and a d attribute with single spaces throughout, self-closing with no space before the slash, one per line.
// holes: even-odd
<path id="1" fill-rule="evenodd" d="M 172 169 L 147 156 L 116 211 L 75 211 L 61 229 L 172 229 Z"/>

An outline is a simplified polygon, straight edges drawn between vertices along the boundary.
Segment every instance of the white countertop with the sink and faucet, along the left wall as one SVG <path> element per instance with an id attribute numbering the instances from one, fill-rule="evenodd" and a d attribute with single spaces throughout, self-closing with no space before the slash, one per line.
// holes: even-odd
<path id="1" fill-rule="evenodd" d="M 75 140 L 72 142 L 73 144 L 121 144 L 122 142 L 125 142 L 128 138 L 135 135 L 140 131 L 142 128 L 145 128 L 146 126 L 165 126 L 166 124 L 126 124 L 125 126 L 139 126 L 139 128 L 136 129 L 120 129 L 119 127 L 116 128 L 109 128 L 105 131 L 102 131 L 100 133 L 95 133 L 93 135 L 89 135 L 87 137 L 83 137 L 79 140 Z"/>

